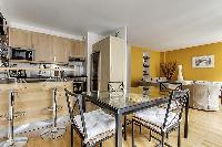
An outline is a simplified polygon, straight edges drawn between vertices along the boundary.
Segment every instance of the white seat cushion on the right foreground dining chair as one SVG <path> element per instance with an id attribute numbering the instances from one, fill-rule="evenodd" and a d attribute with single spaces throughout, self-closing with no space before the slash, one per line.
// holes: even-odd
<path id="1" fill-rule="evenodd" d="M 160 107 L 152 107 L 152 108 L 147 108 L 142 112 L 135 113 L 134 117 L 139 118 L 139 120 L 145 122 L 147 126 L 150 127 L 155 127 L 158 132 L 161 129 L 168 129 L 171 126 L 178 124 L 179 122 L 179 116 L 170 112 L 168 116 L 168 122 L 167 122 L 167 128 L 163 128 L 163 123 L 167 114 L 167 108 L 160 108 Z"/>

